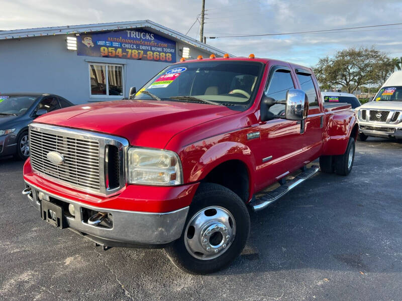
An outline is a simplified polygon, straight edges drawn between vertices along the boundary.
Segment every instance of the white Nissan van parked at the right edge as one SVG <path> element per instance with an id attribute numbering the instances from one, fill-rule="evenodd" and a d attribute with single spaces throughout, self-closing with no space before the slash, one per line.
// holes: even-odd
<path id="1" fill-rule="evenodd" d="M 402 71 L 396 71 L 379 89 L 373 101 L 356 110 L 358 140 L 368 136 L 402 139 Z"/>

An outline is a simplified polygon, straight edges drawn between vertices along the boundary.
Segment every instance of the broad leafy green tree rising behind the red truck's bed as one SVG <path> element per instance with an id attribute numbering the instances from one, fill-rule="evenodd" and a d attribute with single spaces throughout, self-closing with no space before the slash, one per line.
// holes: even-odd
<path id="1" fill-rule="evenodd" d="M 314 73 L 323 88 L 343 86 L 353 93 L 361 85 L 382 80 L 391 60 L 384 52 L 372 48 L 348 48 L 338 51 L 333 57 L 320 58 Z M 381 67 L 381 72 L 378 72 Z"/>

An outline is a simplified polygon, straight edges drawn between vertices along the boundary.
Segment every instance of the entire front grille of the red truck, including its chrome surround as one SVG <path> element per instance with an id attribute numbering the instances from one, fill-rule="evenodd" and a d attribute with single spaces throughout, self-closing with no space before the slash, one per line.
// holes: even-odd
<path id="1" fill-rule="evenodd" d="M 125 186 L 126 139 L 39 123 L 30 125 L 29 135 L 31 166 L 41 176 L 98 195 L 111 195 Z M 107 150 L 112 146 L 116 151 L 109 158 Z M 62 163 L 52 163 L 49 152 L 61 155 Z M 116 160 L 113 174 L 105 158 Z"/>

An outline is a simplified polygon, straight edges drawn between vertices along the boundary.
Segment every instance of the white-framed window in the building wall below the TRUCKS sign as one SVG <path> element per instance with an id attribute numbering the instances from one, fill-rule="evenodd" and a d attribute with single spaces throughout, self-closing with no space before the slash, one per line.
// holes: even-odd
<path id="1" fill-rule="evenodd" d="M 94 98 L 123 98 L 123 66 L 89 64 L 89 92 Z"/>

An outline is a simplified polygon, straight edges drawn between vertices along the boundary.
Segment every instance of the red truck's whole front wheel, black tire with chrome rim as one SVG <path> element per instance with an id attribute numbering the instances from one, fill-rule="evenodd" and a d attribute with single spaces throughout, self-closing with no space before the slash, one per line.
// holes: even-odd
<path id="1" fill-rule="evenodd" d="M 250 216 L 238 195 L 218 184 L 200 184 L 181 237 L 165 251 L 186 272 L 212 273 L 239 256 L 249 232 Z"/>

